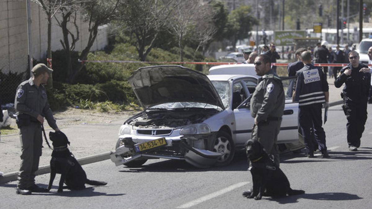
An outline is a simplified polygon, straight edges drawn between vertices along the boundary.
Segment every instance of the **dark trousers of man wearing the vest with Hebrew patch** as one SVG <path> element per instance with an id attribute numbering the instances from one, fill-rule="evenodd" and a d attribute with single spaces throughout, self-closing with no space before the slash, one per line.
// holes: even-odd
<path id="1" fill-rule="evenodd" d="M 318 142 L 321 151 L 327 150 L 327 147 L 325 146 L 325 132 L 322 128 L 322 104 L 316 103 L 299 106 L 298 121 L 308 152 L 311 153 L 317 149 L 313 143 L 315 139 Z M 311 134 L 311 128 L 314 129 L 314 135 Z"/>

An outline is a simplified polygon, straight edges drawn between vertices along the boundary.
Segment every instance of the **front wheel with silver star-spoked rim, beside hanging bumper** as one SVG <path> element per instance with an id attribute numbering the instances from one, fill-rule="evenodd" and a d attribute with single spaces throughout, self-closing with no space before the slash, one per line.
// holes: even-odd
<path id="1" fill-rule="evenodd" d="M 231 163 L 235 154 L 235 144 L 232 141 L 231 135 L 225 131 L 217 133 L 213 150 L 214 152 L 224 153 L 215 163 L 216 166 L 226 166 Z"/>

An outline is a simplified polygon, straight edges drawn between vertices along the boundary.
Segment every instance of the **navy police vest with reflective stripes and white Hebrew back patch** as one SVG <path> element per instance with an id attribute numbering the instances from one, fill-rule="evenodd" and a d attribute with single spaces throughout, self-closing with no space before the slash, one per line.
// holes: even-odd
<path id="1" fill-rule="evenodd" d="M 298 79 L 301 81 L 298 106 L 324 103 L 325 96 L 321 83 L 323 72 L 319 68 L 311 68 L 309 65 L 305 65 L 304 68 L 306 67 L 307 70 L 298 72 Z"/>

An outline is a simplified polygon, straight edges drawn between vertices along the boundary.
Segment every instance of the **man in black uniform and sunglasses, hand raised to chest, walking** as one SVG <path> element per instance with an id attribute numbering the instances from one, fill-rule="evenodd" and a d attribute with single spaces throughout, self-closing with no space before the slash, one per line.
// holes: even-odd
<path id="1" fill-rule="evenodd" d="M 340 88 L 345 83 L 341 97 L 343 97 L 343 110 L 347 119 L 347 144 L 349 151 L 357 151 L 367 120 L 371 73 L 367 65 L 359 62 L 358 52 L 351 51 L 349 60 L 350 63 L 341 69 L 334 81 L 334 86 Z"/>

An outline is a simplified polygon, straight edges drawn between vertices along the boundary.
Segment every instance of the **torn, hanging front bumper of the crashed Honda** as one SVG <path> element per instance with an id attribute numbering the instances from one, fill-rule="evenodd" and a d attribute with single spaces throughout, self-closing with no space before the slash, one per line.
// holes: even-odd
<path id="1" fill-rule="evenodd" d="M 186 138 L 168 139 L 166 145 L 139 151 L 141 143 L 135 143 L 131 137 L 123 138 L 123 145 L 115 152 L 110 152 L 110 159 L 116 166 L 140 159 L 174 159 L 185 160 L 199 168 L 206 168 L 215 164 L 221 153 L 190 146 Z M 151 140 L 150 140 L 151 141 Z"/>

